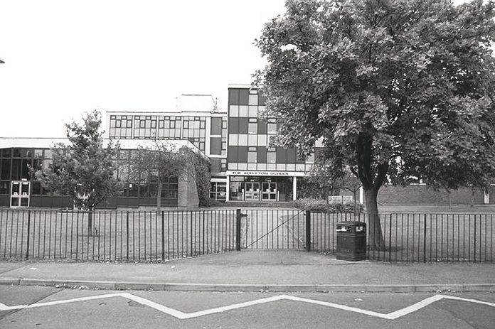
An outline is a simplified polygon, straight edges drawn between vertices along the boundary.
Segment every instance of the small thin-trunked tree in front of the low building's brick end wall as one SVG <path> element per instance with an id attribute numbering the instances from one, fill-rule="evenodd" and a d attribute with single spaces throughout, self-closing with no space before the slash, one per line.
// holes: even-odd
<path id="1" fill-rule="evenodd" d="M 182 179 L 188 166 L 190 153 L 187 148 L 178 149 L 167 141 L 155 140 L 151 146 L 139 146 L 132 158 L 132 175 L 137 180 L 156 182 L 156 212 L 161 212 L 161 191 L 170 178 Z"/>

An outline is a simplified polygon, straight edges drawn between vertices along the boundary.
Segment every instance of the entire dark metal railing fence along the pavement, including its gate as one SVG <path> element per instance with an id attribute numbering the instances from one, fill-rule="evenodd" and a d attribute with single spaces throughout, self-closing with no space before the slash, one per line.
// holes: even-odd
<path id="1" fill-rule="evenodd" d="M 241 249 L 336 253 L 338 222 L 367 224 L 367 258 L 495 261 L 494 215 L 302 210 L 0 210 L 0 259 L 165 261 Z M 379 232 L 382 234 L 380 235 Z M 373 239 L 380 237 L 380 239 Z M 373 243 L 377 240 L 378 243 Z"/>

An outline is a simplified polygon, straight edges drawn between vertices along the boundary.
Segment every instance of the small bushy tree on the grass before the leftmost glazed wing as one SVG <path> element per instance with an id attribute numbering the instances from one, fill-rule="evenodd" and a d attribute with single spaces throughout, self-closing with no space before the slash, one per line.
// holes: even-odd
<path id="1" fill-rule="evenodd" d="M 117 195 L 122 185 L 115 179 L 119 144 L 110 141 L 103 147 L 102 117 L 97 110 L 85 114 L 83 124 L 65 124 L 69 144 L 55 144 L 53 163 L 48 171 L 37 171 L 44 188 L 68 195 L 75 207 L 88 210 L 88 234 L 92 235 L 92 212 L 107 198 Z"/>

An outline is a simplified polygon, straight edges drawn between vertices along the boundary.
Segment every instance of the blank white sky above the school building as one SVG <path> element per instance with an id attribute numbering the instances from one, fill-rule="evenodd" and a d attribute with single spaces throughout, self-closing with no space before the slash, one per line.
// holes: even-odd
<path id="1" fill-rule="evenodd" d="M 249 84 L 284 0 L 0 1 L 0 137 L 61 137 L 84 112 L 174 111 Z"/>

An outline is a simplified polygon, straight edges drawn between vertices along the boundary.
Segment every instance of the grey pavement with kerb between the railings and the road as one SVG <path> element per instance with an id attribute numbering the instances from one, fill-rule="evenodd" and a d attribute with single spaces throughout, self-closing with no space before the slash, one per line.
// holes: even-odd
<path id="1" fill-rule="evenodd" d="M 0 284 L 155 291 L 495 292 L 495 264 L 353 262 L 263 250 L 155 264 L 4 261 Z"/>

